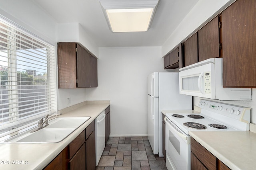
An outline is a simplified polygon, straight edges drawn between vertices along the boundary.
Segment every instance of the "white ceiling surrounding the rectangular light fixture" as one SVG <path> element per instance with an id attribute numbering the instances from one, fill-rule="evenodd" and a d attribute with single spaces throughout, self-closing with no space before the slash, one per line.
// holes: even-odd
<path id="1" fill-rule="evenodd" d="M 198 0 L 159 0 L 146 32 L 112 33 L 98 0 L 34 0 L 56 23 L 80 23 L 98 47 L 162 46 Z"/>

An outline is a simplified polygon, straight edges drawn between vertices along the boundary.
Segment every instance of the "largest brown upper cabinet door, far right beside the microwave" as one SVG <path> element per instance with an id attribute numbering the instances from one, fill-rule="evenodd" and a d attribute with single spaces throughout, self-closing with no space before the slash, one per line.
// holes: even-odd
<path id="1" fill-rule="evenodd" d="M 255 0 L 237 0 L 222 12 L 224 87 L 256 87 L 255 6 Z"/>

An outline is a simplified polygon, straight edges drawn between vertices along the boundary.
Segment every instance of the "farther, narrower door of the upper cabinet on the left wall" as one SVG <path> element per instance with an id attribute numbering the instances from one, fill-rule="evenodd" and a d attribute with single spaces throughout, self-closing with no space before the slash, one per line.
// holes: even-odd
<path id="1" fill-rule="evenodd" d="M 97 59 L 90 55 L 90 87 L 98 87 Z"/>

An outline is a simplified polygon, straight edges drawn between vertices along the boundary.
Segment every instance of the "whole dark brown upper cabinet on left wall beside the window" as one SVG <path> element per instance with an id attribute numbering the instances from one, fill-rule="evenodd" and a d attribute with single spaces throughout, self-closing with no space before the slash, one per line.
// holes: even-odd
<path id="1" fill-rule="evenodd" d="M 78 43 L 58 43 L 58 87 L 97 86 L 97 59 Z"/>

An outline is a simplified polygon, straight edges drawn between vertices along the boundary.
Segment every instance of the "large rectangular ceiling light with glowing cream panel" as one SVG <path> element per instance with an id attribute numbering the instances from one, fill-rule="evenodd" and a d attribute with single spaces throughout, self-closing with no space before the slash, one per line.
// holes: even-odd
<path id="1" fill-rule="evenodd" d="M 99 0 L 112 32 L 148 31 L 158 0 Z"/>

